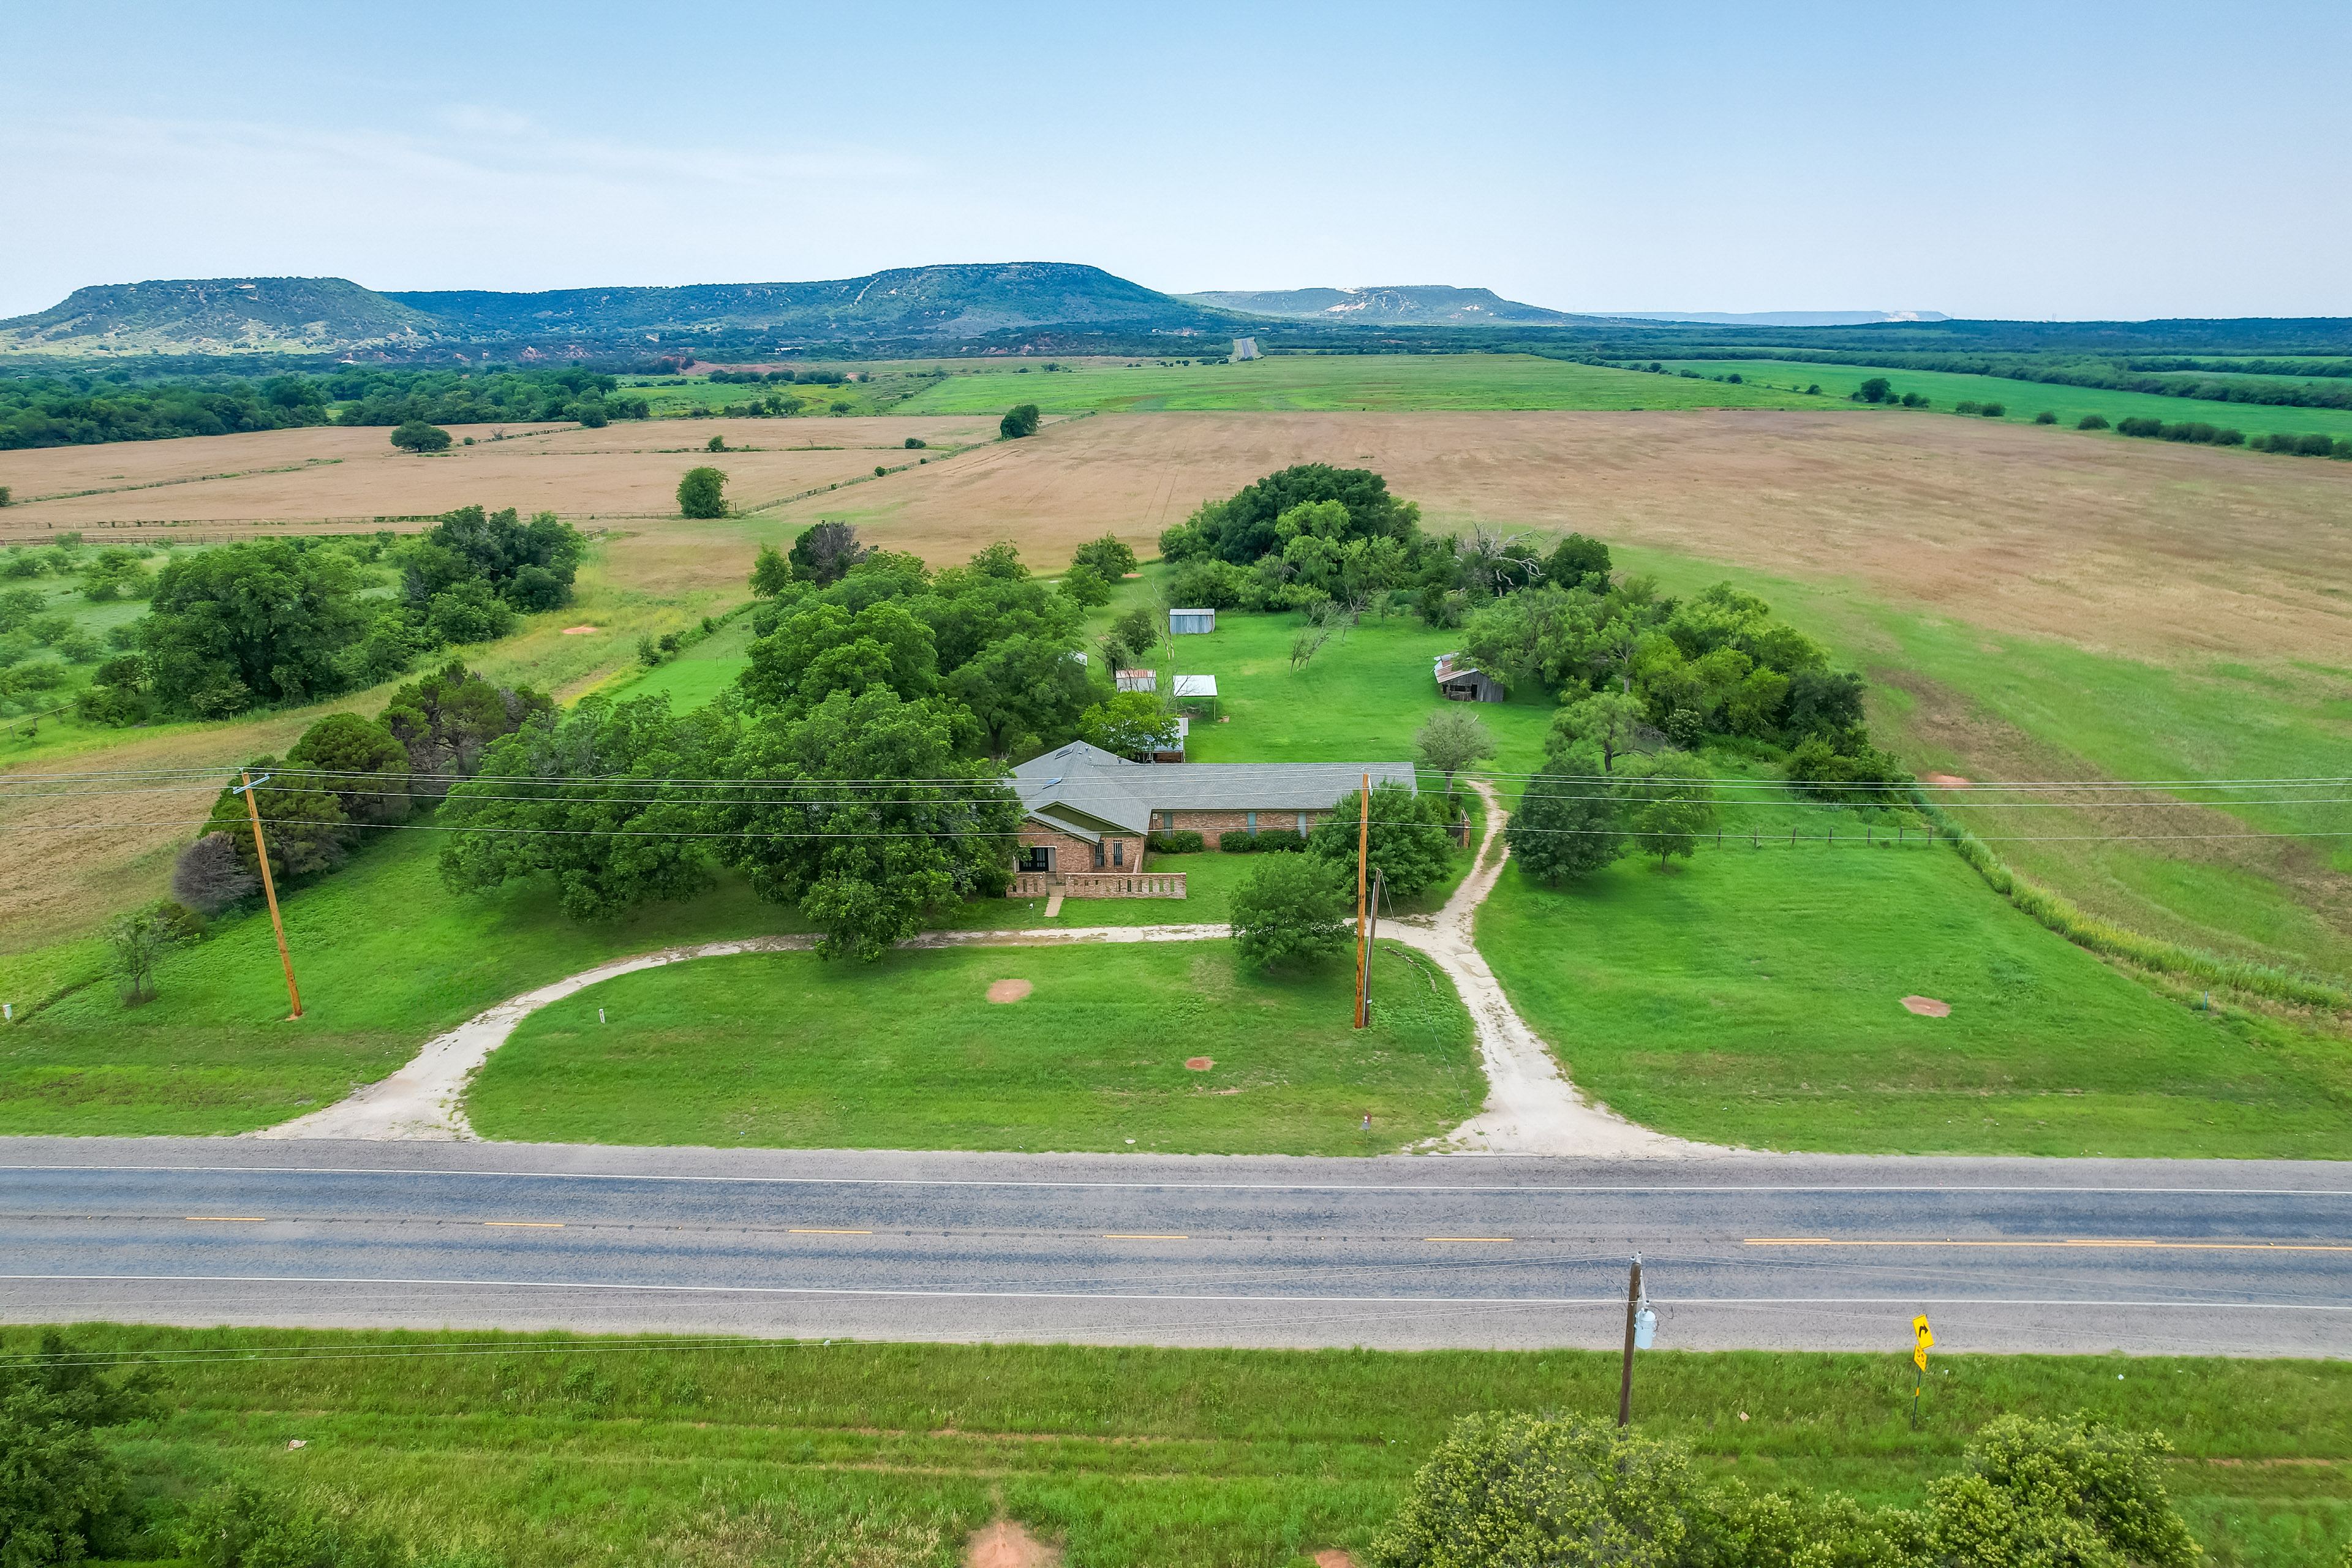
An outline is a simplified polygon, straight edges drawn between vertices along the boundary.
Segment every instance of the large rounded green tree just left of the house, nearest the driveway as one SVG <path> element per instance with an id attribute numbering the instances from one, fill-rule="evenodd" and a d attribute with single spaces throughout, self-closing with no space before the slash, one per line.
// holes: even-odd
<path id="1" fill-rule="evenodd" d="M 807 717 L 743 726 L 710 823 L 760 898 L 797 903 L 826 957 L 877 959 L 924 910 L 1011 879 L 1021 799 L 960 755 L 955 717 L 887 686 L 835 691 Z"/>

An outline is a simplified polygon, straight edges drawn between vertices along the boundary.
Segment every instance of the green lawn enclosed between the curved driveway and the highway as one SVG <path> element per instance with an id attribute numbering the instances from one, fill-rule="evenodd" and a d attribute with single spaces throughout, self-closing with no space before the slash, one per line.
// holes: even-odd
<path id="1" fill-rule="evenodd" d="M 1418 1006 L 1357 1034 L 1345 964 L 1270 978 L 1223 940 L 699 959 L 532 1013 L 466 1114 L 534 1143 L 1390 1154 L 1486 1098 L 1470 1016 L 1390 969 Z"/>

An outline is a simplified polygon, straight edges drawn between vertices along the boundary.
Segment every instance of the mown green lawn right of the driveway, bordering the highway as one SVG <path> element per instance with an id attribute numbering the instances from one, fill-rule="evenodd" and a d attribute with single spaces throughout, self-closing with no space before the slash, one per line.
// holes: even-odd
<path id="1" fill-rule="evenodd" d="M 1724 813 L 1724 849 L 1552 891 L 1515 867 L 1479 952 L 1581 1088 L 1771 1150 L 2343 1159 L 2340 1039 L 2197 1013 L 2044 931 L 1945 846 Z M 1757 825 L 1762 849 L 1748 839 Z M 1780 842 L 1771 839 L 1778 827 Z M 1879 830 L 1886 837 L 1886 830 Z M 1952 1006 L 1919 1018 L 1903 997 Z"/>

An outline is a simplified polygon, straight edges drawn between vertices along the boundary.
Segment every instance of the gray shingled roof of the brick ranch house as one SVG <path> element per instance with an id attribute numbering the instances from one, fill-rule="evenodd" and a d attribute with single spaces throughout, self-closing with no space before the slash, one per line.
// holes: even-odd
<path id="1" fill-rule="evenodd" d="M 1329 811 L 1364 773 L 1414 788 L 1411 762 L 1129 762 L 1084 741 L 1023 762 L 1011 783 L 1030 816 L 1091 839 L 1075 813 L 1148 832 L 1152 811 Z"/>

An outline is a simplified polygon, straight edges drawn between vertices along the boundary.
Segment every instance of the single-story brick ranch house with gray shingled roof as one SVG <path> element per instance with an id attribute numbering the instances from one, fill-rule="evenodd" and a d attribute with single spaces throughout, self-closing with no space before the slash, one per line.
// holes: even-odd
<path id="1" fill-rule="evenodd" d="M 1145 872 L 1143 837 L 1289 827 L 1308 832 L 1343 795 L 1402 783 L 1411 762 L 1129 762 L 1084 741 L 1033 757 L 1011 785 L 1025 816 L 1014 896 L 1183 898 L 1183 872 Z"/>

